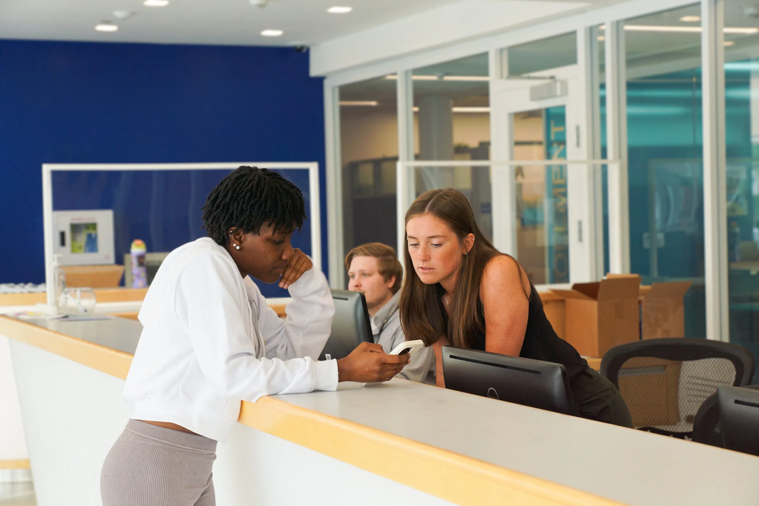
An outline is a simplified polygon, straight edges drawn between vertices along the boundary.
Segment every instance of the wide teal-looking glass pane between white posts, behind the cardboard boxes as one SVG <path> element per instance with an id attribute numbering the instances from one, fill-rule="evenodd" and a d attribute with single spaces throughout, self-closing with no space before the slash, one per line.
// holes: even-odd
<path id="1" fill-rule="evenodd" d="M 625 20 L 630 269 L 690 281 L 685 334 L 705 337 L 700 5 Z"/>

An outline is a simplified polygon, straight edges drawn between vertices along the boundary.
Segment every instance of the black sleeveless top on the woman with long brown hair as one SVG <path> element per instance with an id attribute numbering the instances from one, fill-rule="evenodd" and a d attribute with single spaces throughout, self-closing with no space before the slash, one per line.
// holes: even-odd
<path id="1" fill-rule="evenodd" d="M 439 284 L 437 285 L 437 291 L 442 317 L 446 323 L 447 334 L 448 313 L 446 312 L 446 308 L 442 306 L 442 294 L 445 294 L 446 291 Z M 551 322 L 548 321 L 546 313 L 543 311 L 543 301 L 540 300 L 540 295 L 537 294 L 537 290 L 535 290 L 532 284 L 530 284 L 530 291 L 527 329 L 524 331 L 524 342 L 522 342 L 519 356 L 543 360 L 545 362 L 560 363 L 567 369 L 567 375 L 571 381 L 585 370 L 587 361 L 580 357 L 580 354 L 578 354 L 572 344 L 556 335 Z M 484 309 L 480 300 L 477 300 L 477 311 L 479 311 L 480 318 L 484 322 Z M 485 351 L 485 332 L 477 332 L 472 341 L 471 349 Z"/>

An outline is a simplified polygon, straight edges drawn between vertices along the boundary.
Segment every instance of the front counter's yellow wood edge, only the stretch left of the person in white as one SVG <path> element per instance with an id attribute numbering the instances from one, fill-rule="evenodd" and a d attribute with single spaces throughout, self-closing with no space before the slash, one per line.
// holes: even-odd
<path id="1" fill-rule="evenodd" d="M 49 351 L 118 379 L 127 379 L 132 363 L 133 356 L 123 351 L 6 316 L 0 316 L 0 335 Z"/>

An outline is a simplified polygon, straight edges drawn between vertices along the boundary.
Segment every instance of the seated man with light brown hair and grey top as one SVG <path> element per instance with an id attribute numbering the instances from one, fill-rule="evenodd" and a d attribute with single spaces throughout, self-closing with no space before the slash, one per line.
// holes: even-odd
<path id="1" fill-rule="evenodd" d="M 390 353 L 406 340 L 398 313 L 403 267 L 395 250 L 382 243 L 354 247 L 345 256 L 345 269 L 348 269 L 348 290 L 361 291 L 366 297 L 374 342 L 381 345 L 385 353 Z M 432 347 L 425 347 L 411 357 L 398 378 L 434 385 Z"/>

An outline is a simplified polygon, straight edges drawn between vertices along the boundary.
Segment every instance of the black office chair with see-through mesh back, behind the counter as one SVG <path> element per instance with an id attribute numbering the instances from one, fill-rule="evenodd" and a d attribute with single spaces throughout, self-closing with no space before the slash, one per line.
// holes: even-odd
<path id="1" fill-rule="evenodd" d="M 601 375 L 619 388 L 636 429 L 692 438 L 698 409 L 717 387 L 751 382 L 754 355 L 720 341 L 649 339 L 607 351 Z"/>

